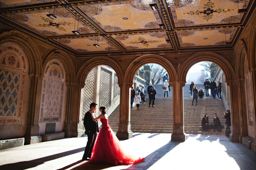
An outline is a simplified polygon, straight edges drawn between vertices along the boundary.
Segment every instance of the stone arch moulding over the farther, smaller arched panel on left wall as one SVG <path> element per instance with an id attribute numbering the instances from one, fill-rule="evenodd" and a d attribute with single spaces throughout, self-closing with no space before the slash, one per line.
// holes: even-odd
<path id="1" fill-rule="evenodd" d="M 44 75 L 44 70 L 46 69 L 49 61 L 53 60 L 53 59 L 57 59 L 61 62 L 61 64 L 63 64 L 63 67 L 65 68 L 65 74 L 66 74 L 65 81 L 66 82 L 75 82 L 74 64 L 73 64 L 72 60 L 70 59 L 70 57 L 66 53 L 63 53 L 63 52 L 56 53 L 56 54 L 54 52 L 49 53 L 49 55 L 44 60 L 44 65 L 42 66 L 43 69 L 42 69 L 41 75 Z"/>

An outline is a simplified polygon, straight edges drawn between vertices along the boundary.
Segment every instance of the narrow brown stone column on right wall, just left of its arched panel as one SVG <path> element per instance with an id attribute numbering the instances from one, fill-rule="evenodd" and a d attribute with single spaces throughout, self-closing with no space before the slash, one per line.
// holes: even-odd
<path id="1" fill-rule="evenodd" d="M 240 135 L 239 142 L 242 143 L 242 138 L 248 136 L 247 128 L 247 112 L 245 99 L 245 79 L 238 79 L 238 102 L 239 102 L 239 119 L 240 119 Z"/>

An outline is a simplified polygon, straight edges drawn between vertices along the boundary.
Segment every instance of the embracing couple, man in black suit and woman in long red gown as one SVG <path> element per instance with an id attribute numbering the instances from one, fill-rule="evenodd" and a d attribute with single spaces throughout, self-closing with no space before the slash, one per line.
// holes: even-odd
<path id="1" fill-rule="evenodd" d="M 134 158 L 123 152 L 118 138 L 109 126 L 108 117 L 106 116 L 106 107 L 101 106 L 99 108 L 99 113 L 101 114 L 98 117 L 96 117 L 95 114 L 96 109 L 97 104 L 92 103 L 90 110 L 84 115 L 83 125 L 86 128 L 88 142 L 82 160 L 90 160 L 92 163 L 110 163 L 114 165 L 128 165 L 144 161 L 144 158 Z M 97 122 L 99 119 L 102 123 L 100 132 Z"/>

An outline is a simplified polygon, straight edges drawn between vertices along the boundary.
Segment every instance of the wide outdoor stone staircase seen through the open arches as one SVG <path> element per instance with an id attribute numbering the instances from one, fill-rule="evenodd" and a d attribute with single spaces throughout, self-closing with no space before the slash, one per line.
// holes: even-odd
<path id="1" fill-rule="evenodd" d="M 140 105 L 140 111 L 137 108 L 131 109 L 131 131 L 132 132 L 148 132 L 148 133 L 173 133 L 173 89 L 170 88 L 169 98 L 164 98 L 162 85 L 154 85 L 157 91 L 155 108 L 148 107 L 148 96 L 146 104 Z M 203 84 L 196 84 L 197 88 L 203 88 Z M 205 113 L 209 115 L 209 123 L 212 123 L 214 113 L 220 118 L 225 131 L 225 119 L 223 113 L 225 107 L 223 101 L 212 99 L 210 97 L 198 99 L 198 105 L 191 106 L 192 98 L 189 94 L 189 84 L 183 88 L 184 98 L 184 131 L 188 134 L 202 134 L 212 132 L 202 132 L 201 119 Z M 194 104 L 196 101 L 194 101 Z M 118 131 L 119 124 L 119 106 L 109 116 L 109 124 L 114 132 Z M 210 130 L 212 131 L 212 130 Z"/>

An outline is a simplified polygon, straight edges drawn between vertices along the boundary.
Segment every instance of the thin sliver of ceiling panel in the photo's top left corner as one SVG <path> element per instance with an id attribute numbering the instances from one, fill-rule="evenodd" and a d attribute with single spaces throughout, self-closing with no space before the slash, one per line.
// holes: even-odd
<path id="1" fill-rule="evenodd" d="M 52 0 L 1 0 L 0 8 L 55 2 Z"/>

